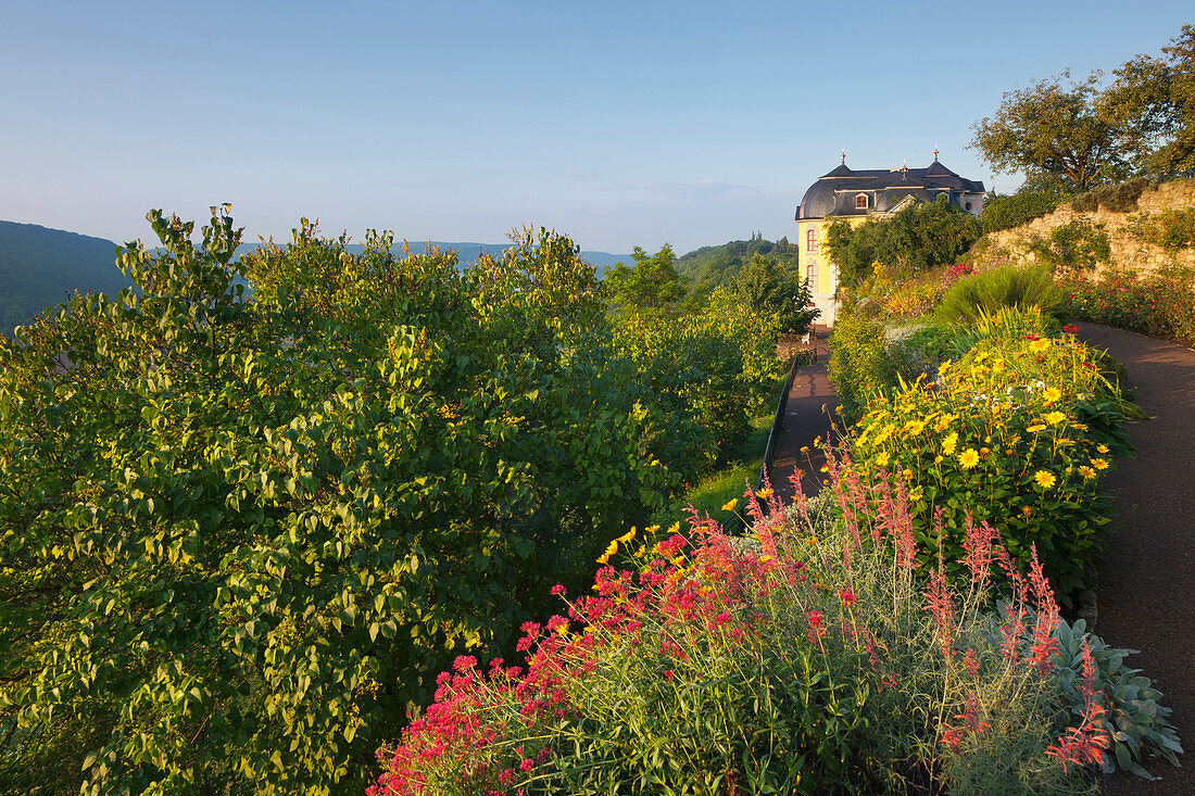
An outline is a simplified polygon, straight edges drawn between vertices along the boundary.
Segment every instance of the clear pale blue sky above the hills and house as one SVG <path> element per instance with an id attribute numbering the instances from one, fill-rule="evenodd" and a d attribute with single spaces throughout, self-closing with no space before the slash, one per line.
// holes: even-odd
<path id="1" fill-rule="evenodd" d="M 1110 72 L 1188 2 L 0 0 L 0 219 L 125 241 L 232 202 L 250 239 L 368 227 L 679 252 L 792 234 L 805 188 L 942 161 L 1003 92 Z"/>

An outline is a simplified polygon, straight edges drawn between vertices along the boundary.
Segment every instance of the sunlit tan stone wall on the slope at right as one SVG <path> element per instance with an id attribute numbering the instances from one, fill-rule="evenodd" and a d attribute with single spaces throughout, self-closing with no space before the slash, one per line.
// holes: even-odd
<path id="1" fill-rule="evenodd" d="M 987 238 L 993 249 L 1004 250 L 1017 261 L 1031 263 L 1036 257 L 1029 251 L 1028 241 L 1034 235 L 1046 238 L 1060 226 L 1077 219 L 1086 219 L 1092 224 L 1103 225 L 1111 247 L 1111 264 L 1116 268 L 1138 273 L 1152 273 L 1171 264 L 1195 268 L 1195 249 L 1183 249 L 1171 253 L 1160 246 L 1145 243 L 1135 234 L 1146 214 L 1153 215 L 1162 210 L 1184 207 L 1195 207 L 1195 179 L 1181 179 L 1145 189 L 1136 201 L 1135 212 L 1114 213 L 1101 207 L 1092 213 L 1080 213 L 1068 202 L 1048 215 L 1012 229 L 993 232 Z M 1107 265 L 1101 264 L 1096 271 L 1098 274 L 1105 269 Z"/>

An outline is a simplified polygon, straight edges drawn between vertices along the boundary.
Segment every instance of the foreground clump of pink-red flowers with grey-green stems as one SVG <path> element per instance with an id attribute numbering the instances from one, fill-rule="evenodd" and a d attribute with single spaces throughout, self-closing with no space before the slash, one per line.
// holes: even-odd
<path id="1" fill-rule="evenodd" d="M 1056 676 L 1034 550 L 1022 571 L 967 523 L 949 582 L 902 484 L 859 510 L 850 477 L 828 522 L 799 485 L 791 512 L 748 494 L 752 545 L 695 514 L 615 539 L 593 594 L 523 625 L 525 667 L 441 675 L 370 796 L 1091 792 L 1105 698 L 1085 637 Z"/>

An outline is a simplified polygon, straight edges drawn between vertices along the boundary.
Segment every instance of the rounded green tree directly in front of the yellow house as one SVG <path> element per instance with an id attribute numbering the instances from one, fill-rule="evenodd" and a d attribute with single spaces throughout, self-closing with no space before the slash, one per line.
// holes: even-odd
<path id="1" fill-rule="evenodd" d="M 980 222 L 939 197 L 913 204 L 889 219 L 860 225 L 833 222 L 823 244 L 839 269 L 839 280 L 853 286 L 880 262 L 907 274 L 920 274 L 952 263 L 981 234 Z"/>

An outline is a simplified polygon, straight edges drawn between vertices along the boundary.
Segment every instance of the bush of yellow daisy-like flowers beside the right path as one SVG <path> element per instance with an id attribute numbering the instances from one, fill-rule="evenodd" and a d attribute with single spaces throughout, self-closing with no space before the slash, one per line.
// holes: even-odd
<path id="1" fill-rule="evenodd" d="M 987 521 L 1021 567 L 1036 543 L 1066 596 L 1099 553 L 1109 508 L 1098 485 L 1127 452 L 1121 425 L 1135 410 L 1073 335 L 998 331 L 943 362 L 936 381 L 872 398 L 844 453 L 846 498 L 875 502 L 875 486 L 897 477 L 923 563 L 940 546 L 954 577 L 967 523 Z"/>

